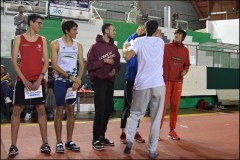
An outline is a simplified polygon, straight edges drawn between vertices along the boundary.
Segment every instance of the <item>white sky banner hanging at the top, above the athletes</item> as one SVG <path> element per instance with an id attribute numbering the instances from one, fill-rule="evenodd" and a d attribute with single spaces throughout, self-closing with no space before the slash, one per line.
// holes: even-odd
<path id="1" fill-rule="evenodd" d="M 51 16 L 61 16 L 89 20 L 89 0 L 50 0 Z"/>

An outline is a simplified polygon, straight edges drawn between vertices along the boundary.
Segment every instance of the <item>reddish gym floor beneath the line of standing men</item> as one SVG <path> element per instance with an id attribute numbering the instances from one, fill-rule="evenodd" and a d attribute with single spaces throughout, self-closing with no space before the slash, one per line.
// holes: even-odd
<path id="1" fill-rule="evenodd" d="M 21 123 L 17 147 L 19 154 L 14 159 L 147 159 L 148 135 L 151 118 L 145 116 L 140 123 L 139 132 L 146 143 L 135 142 L 130 155 L 123 153 L 124 144 L 120 143 L 120 112 L 112 115 L 106 137 L 115 142 L 114 147 L 95 151 L 91 146 L 92 119 L 78 119 L 75 123 L 73 141 L 81 148 L 78 153 L 65 150 L 64 154 L 55 153 L 56 137 L 53 121 L 48 122 L 48 141 L 50 155 L 40 153 L 41 136 L 37 123 Z M 205 111 L 195 108 L 181 109 L 176 132 L 181 140 L 167 137 L 169 116 L 166 116 L 160 133 L 157 152 L 158 159 L 239 159 L 239 107 L 223 111 Z M 11 145 L 10 124 L 1 124 L 1 159 Z M 63 142 L 66 140 L 66 121 L 63 121 Z"/>

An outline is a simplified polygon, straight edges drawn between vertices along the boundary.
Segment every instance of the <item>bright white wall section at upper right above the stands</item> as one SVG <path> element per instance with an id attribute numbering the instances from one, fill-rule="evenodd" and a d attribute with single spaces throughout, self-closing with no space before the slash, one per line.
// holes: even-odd
<path id="1" fill-rule="evenodd" d="M 239 45 L 239 19 L 207 21 L 206 31 L 222 43 Z"/>

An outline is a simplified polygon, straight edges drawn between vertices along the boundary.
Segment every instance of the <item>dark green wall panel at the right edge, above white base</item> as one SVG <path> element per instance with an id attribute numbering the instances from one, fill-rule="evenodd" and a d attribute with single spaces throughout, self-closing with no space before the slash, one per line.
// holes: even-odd
<path id="1" fill-rule="evenodd" d="M 239 69 L 207 67 L 207 89 L 239 89 Z"/>

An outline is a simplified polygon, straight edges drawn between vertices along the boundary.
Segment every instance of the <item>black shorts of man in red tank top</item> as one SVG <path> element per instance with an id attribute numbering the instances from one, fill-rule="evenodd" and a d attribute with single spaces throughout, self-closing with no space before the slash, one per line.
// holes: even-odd
<path id="1" fill-rule="evenodd" d="M 32 83 L 34 81 L 31 81 Z M 41 83 L 43 97 L 40 98 L 32 98 L 32 99 L 25 99 L 24 96 L 24 84 L 22 81 L 17 81 L 14 87 L 14 95 L 13 95 L 13 104 L 14 105 L 41 105 L 45 104 L 46 101 L 46 93 L 45 93 L 45 85 L 44 81 Z"/>

